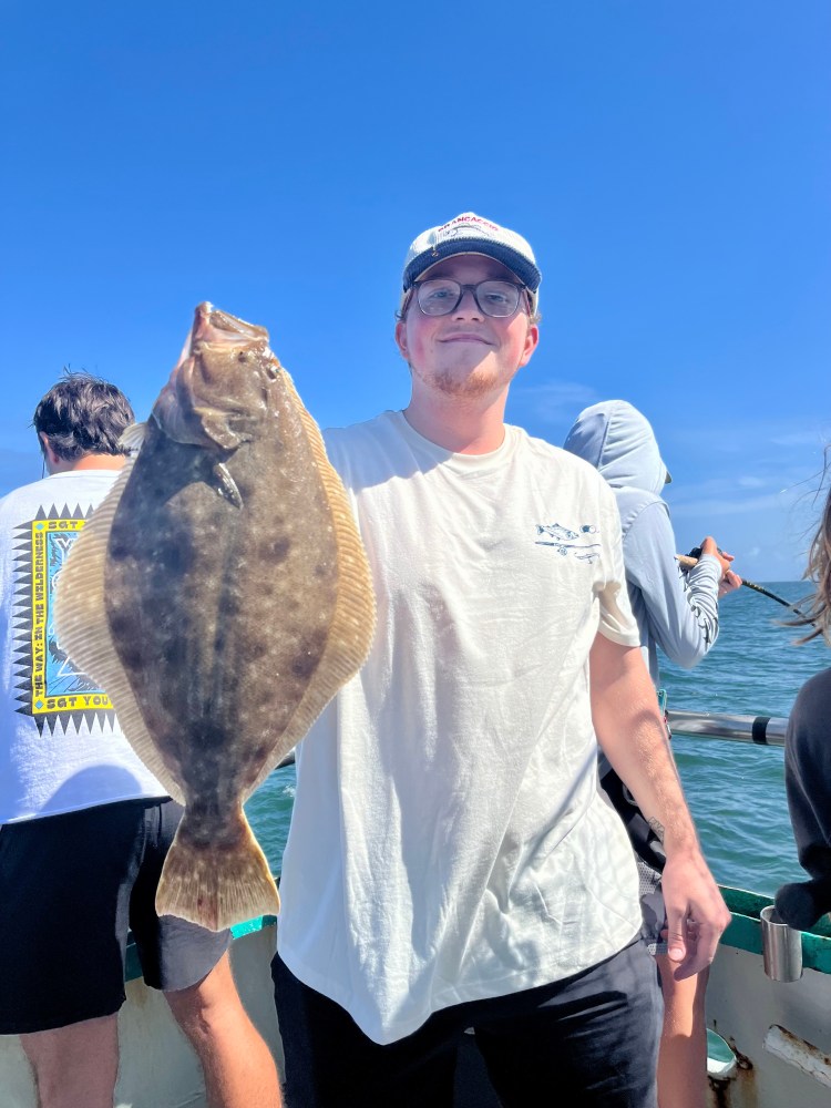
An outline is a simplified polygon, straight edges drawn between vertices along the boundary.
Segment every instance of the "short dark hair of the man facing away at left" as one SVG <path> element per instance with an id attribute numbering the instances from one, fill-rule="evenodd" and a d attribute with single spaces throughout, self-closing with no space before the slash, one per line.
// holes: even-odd
<path id="1" fill-rule="evenodd" d="M 32 417 L 38 435 L 42 431 L 55 454 L 66 462 L 83 454 L 125 454 L 119 440 L 134 422 L 130 401 L 114 384 L 69 370 L 41 399 Z"/>

